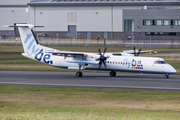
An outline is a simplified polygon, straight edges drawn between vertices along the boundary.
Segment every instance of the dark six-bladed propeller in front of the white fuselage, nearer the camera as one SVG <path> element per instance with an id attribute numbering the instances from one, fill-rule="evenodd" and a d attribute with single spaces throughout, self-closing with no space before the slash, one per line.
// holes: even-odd
<path id="1" fill-rule="evenodd" d="M 104 66 L 105 66 L 105 68 L 106 68 L 106 63 L 105 63 L 105 61 L 107 60 L 107 58 L 109 58 L 109 57 L 105 57 L 105 56 L 104 56 L 104 54 L 105 54 L 105 52 L 106 52 L 106 49 L 107 49 L 107 48 L 104 48 L 104 53 L 103 53 L 103 54 L 101 53 L 100 48 L 98 49 L 99 54 L 100 54 L 100 57 L 99 57 L 98 59 L 96 59 L 96 60 L 99 60 L 99 69 L 101 68 L 102 63 L 104 64 Z"/>

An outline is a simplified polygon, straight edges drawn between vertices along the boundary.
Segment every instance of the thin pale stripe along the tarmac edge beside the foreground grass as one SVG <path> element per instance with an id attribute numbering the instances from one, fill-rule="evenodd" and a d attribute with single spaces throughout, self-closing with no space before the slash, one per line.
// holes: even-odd
<path id="1" fill-rule="evenodd" d="M 0 84 L 39 85 L 39 86 L 67 86 L 67 87 L 70 86 L 70 87 L 106 87 L 106 88 L 180 90 L 180 88 L 169 88 L 169 87 L 113 86 L 113 85 L 46 84 L 46 83 L 19 83 L 19 82 L 0 82 Z"/>

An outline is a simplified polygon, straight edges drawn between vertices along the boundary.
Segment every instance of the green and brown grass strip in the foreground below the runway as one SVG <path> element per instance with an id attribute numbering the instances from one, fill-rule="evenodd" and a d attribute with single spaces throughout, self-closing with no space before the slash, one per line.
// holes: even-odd
<path id="1" fill-rule="evenodd" d="M 178 120 L 179 92 L 0 86 L 0 119 Z"/>

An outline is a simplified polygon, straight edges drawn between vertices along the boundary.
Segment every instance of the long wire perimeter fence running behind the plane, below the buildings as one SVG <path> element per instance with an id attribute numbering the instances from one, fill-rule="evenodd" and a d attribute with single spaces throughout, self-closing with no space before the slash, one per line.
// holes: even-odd
<path id="1" fill-rule="evenodd" d="M 123 40 L 123 39 L 60 39 L 38 37 L 42 45 L 52 46 L 111 46 L 145 48 L 180 48 L 180 40 Z M 21 44 L 19 37 L 0 39 L 0 44 Z"/>

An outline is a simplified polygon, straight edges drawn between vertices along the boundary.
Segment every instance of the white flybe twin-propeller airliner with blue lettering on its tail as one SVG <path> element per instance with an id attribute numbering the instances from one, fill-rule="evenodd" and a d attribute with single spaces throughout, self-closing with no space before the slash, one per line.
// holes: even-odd
<path id="1" fill-rule="evenodd" d="M 155 73 L 164 74 L 164 78 L 176 73 L 162 58 L 139 57 L 141 50 L 135 52 L 134 49 L 133 54 L 106 53 L 106 48 L 103 53 L 100 49 L 99 53 L 61 51 L 40 45 L 33 32 L 36 26 L 16 24 L 16 27 L 21 36 L 23 56 L 58 68 L 77 69 L 77 77 L 83 76 L 82 70 L 110 71 L 110 76 L 116 76 L 116 71 Z"/>

